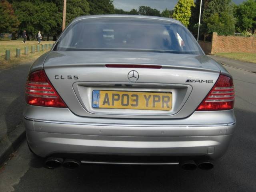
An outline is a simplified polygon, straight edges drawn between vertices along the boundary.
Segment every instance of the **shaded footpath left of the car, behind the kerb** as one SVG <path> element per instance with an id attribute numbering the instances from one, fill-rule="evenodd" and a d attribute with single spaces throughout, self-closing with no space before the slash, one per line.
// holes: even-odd
<path id="1" fill-rule="evenodd" d="M 8 70 L 0 70 L 0 164 L 25 137 L 22 110 L 30 65 L 20 64 Z"/>

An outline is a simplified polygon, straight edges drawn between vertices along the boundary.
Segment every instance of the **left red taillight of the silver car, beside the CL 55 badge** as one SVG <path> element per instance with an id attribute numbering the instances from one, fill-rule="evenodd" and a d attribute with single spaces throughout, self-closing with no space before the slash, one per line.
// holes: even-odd
<path id="1" fill-rule="evenodd" d="M 44 107 L 67 107 L 48 80 L 44 70 L 29 74 L 25 92 L 27 104 Z"/>

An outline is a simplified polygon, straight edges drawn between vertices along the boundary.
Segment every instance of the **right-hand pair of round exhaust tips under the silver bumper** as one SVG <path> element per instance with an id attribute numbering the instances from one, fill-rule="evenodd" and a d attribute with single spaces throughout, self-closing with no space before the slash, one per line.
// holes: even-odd
<path id="1" fill-rule="evenodd" d="M 197 164 L 193 160 L 187 160 L 180 163 L 180 167 L 183 170 L 195 170 L 200 168 L 202 170 L 210 170 L 214 167 L 212 161 L 200 161 Z"/>

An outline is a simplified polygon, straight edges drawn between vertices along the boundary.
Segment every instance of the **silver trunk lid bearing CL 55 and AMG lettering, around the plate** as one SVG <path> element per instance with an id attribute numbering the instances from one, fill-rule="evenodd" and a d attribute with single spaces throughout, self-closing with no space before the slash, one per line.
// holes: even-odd
<path id="1" fill-rule="evenodd" d="M 107 68 L 141 64 L 150 68 Z M 218 79 L 220 69 L 208 56 L 152 52 L 50 52 L 44 70 L 74 114 L 112 118 L 184 118 L 194 112 Z M 128 73 L 139 74 L 136 82 Z M 207 81 L 206 81 L 207 80 Z M 171 110 L 93 108 L 94 90 L 171 92 Z"/>

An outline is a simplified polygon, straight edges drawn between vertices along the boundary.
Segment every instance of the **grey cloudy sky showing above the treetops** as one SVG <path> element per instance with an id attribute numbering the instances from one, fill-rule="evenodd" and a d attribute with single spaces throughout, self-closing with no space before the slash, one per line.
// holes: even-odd
<path id="1" fill-rule="evenodd" d="M 233 0 L 234 3 L 240 4 L 244 0 Z M 162 12 L 165 8 L 172 10 L 178 0 L 114 0 L 114 6 L 117 9 L 130 11 L 139 6 L 150 6 L 151 8 L 158 9 Z"/>

